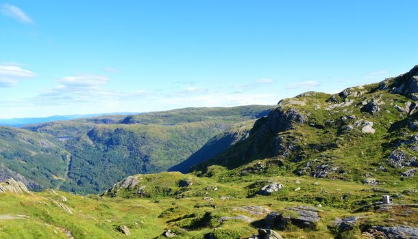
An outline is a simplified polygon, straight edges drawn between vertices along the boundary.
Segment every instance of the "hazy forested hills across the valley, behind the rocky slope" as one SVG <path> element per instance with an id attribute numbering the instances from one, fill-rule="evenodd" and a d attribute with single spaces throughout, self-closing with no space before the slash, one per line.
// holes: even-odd
<path id="1" fill-rule="evenodd" d="M 3 127 L 0 176 L 23 180 L 32 190 L 99 193 L 128 175 L 165 171 L 270 108 L 188 108 Z"/>

